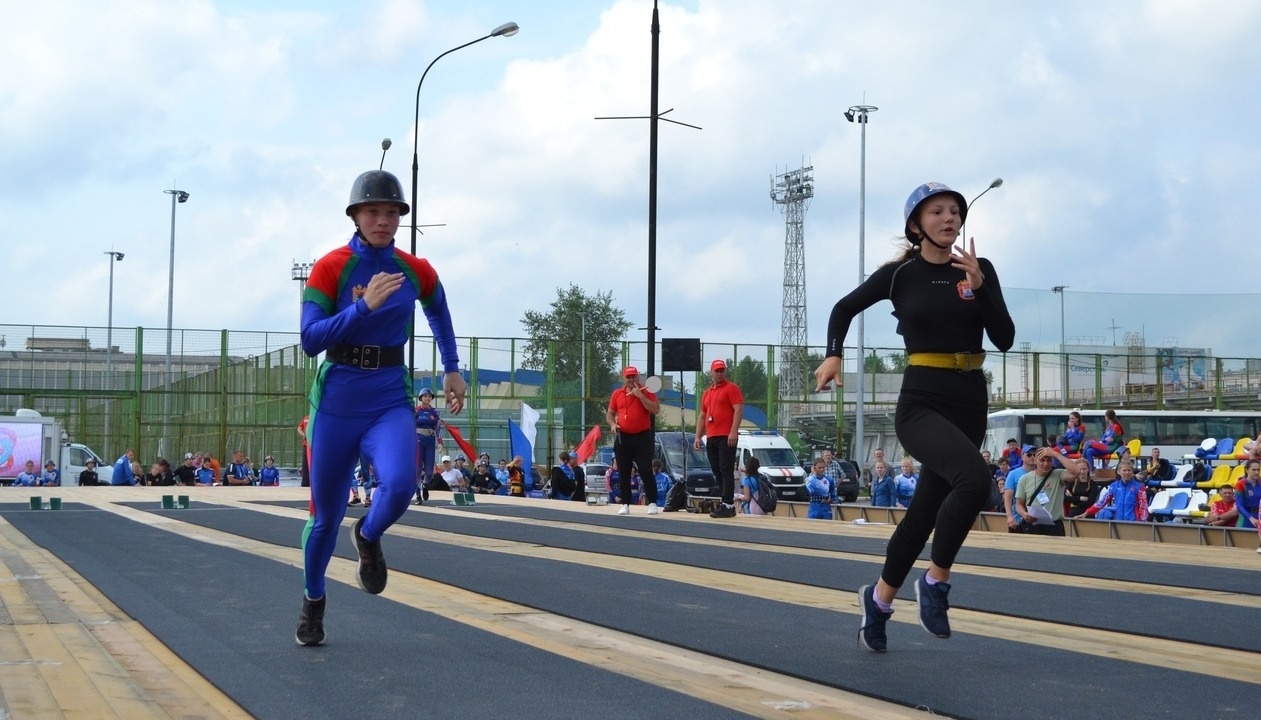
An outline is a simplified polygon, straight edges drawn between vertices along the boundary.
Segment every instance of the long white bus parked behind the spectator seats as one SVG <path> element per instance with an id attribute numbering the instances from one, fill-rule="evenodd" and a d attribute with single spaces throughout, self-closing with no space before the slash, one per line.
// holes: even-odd
<path id="1" fill-rule="evenodd" d="M 1021 445 L 1040 448 L 1050 435 L 1058 436 L 1068 425 L 1071 410 L 1030 407 L 1024 410 L 997 410 L 990 412 L 982 450 L 997 458 L 1015 438 Z M 1086 440 L 1098 440 L 1103 434 L 1102 410 L 1077 410 L 1082 414 Z M 1177 464 L 1183 455 L 1192 455 L 1200 444 L 1212 438 L 1256 438 L 1261 430 L 1261 412 L 1227 410 L 1130 410 L 1116 409 L 1116 419 L 1125 429 L 1125 440 L 1137 438 L 1142 443 L 1142 455 L 1160 448 L 1163 458 Z"/>

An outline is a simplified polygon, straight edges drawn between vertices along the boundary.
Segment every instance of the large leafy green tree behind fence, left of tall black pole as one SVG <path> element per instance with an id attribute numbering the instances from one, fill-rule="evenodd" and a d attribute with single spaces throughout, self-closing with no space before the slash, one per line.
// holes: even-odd
<path id="1" fill-rule="evenodd" d="M 556 289 L 556 299 L 546 313 L 526 310 L 521 325 L 528 338 L 522 367 L 547 369 L 550 345 L 556 396 L 584 397 L 588 425 L 601 422 L 605 393 L 618 376 L 622 338 L 630 329 L 625 313 L 613 306 L 613 293 L 588 295 L 571 282 L 566 289 Z M 579 404 L 560 402 L 560 406 L 565 410 L 566 425 L 576 425 L 581 416 Z"/>

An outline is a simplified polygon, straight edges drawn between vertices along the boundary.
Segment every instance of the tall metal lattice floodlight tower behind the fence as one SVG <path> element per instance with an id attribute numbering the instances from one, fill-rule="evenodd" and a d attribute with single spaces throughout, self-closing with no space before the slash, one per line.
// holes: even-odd
<path id="1" fill-rule="evenodd" d="M 815 197 L 815 166 L 770 179 L 770 200 L 784 214 L 784 295 L 779 329 L 779 404 L 805 400 L 806 367 L 806 209 Z M 781 424 L 784 419 L 781 417 Z"/>

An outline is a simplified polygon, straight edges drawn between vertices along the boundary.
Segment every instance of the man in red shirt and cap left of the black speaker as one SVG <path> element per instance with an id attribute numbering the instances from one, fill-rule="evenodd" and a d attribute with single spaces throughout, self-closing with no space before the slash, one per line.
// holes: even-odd
<path id="1" fill-rule="evenodd" d="M 609 397 L 609 410 L 604 419 L 613 433 L 613 462 L 618 468 L 622 507 L 618 514 L 630 514 L 630 463 L 639 469 L 641 478 L 652 478 L 652 416 L 661 411 L 657 396 L 639 385 L 639 371 L 627 366 L 622 371 L 622 387 Z M 657 514 L 657 483 L 643 483 L 648 514 Z"/>

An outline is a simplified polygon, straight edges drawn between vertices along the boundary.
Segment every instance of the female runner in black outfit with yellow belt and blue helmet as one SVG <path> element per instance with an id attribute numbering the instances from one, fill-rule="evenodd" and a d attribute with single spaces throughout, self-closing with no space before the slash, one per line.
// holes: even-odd
<path id="1" fill-rule="evenodd" d="M 936 637 L 950 637 L 950 569 L 994 482 L 977 451 L 989 411 L 981 339 L 987 334 L 1002 352 L 1015 339 L 994 265 L 976 256 L 975 242 L 966 250 L 955 245 L 967 217 L 963 195 L 927 183 L 910 193 L 903 214 L 909 247 L 836 303 L 827 323 L 827 357 L 815 371 L 818 391 L 832 382 L 840 386 L 850 322 L 880 300 L 893 301 L 908 361 L 894 429 L 923 470 L 915 498 L 889 540 L 880 580 L 859 590 L 859 642 L 873 652 L 885 649 L 893 598 L 931 532 L 932 565 L 915 580 L 919 624 Z"/>

